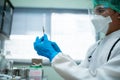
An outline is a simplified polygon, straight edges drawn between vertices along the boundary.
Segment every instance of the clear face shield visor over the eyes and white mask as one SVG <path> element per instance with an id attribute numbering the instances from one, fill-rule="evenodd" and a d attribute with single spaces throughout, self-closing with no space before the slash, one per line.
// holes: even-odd
<path id="1" fill-rule="evenodd" d="M 106 9 L 106 7 L 100 5 L 97 6 L 94 10 L 91 9 L 89 11 L 89 16 L 94 26 L 96 35 L 99 34 L 105 36 L 109 27 L 109 23 L 112 22 L 110 16 L 101 16 L 101 14 L 106 11 Z"/>

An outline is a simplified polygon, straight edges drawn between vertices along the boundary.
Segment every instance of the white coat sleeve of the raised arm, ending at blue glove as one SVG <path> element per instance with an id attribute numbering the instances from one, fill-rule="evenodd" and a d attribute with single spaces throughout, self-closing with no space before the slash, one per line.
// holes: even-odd
<path id="1" fill-rule="evenodd" d="M 52 67 L 65 80 L 120 80 L 120 55 L 92 71 L 77 65 L 69 56 L 59 53 L 53 59 Z"/>

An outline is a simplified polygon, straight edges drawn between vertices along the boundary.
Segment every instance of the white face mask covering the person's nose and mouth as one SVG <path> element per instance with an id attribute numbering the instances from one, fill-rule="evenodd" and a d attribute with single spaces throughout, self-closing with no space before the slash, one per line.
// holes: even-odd
<path id="1" fill-rule="evenodd" d="M 109 28 L 110 22 L 112 22 L 112 19 L 110 18 L 110 16 L 103 17 L 98 15 L 92 19 L 92 23 L 95 27 L 96 33 L 103 32 L 104 34 L 106 34 Z"/>

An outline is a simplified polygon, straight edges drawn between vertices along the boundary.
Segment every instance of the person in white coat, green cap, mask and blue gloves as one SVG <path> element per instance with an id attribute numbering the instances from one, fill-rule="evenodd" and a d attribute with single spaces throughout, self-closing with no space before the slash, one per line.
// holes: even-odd
<path id="1" fill-rule="evenodd" d="M 62 53 L 47 35 L 37 37 L 34 42 L 36 52 L 47 57 L 65 80 L 120 80 L 120 0 L 93 3 L 97 16 L 92 22 L 96 32 L 104 32 L 106 36 L 88 50 L 80 65 Z"/>

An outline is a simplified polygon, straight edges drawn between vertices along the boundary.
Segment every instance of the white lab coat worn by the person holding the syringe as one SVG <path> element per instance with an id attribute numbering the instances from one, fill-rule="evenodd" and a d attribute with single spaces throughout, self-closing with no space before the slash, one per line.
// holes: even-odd
<path id="1" fill-rule="evenodd" d="M 111 33 L 88 50 L 86 59 L 77 65 L 68 55 L 59 53 L 52 60 L 52 67 L 65 80 L 120 80 L 120 30 Z M 92 58 L 88 58 L 92 55 Z M 89 61 L 90 60 L 90 61 Z"/>

